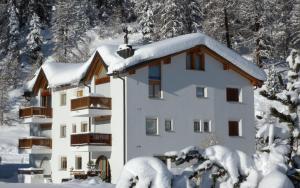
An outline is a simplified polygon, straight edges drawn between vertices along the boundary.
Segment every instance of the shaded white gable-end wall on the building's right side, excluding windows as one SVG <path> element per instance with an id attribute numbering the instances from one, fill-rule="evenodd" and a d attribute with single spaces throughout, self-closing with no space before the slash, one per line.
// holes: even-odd
<path id="1" fill-rule="evenodd" d="M 208 97 L 196 97 L 196 86 L 208 88 Z M 243 90 L 242 104 L 226 102 L 226 87 Z M 186 70 L 185 54 L 162 64 L 162 99 L 148 98 L 148 67 L 138 69 L 127 81 L 128 159 L 163 154 L 189 145 L 207 146 L 207 133 L 194 133 L 193 120 L 210 120 L 220 144 L 246 153 L 254 151 L 253 91 L 250 82 L 206 55 L 206 70 Z M 113 99 L 114 100 L 114 99 Z M 146 117 L 159 119 L 159 135 L 146 136 Z M 165 132 L 164 120 L 172 119 L 175 131 Z M 228 136 L 228 120 L 243 120 L 243 137 Z"/>

